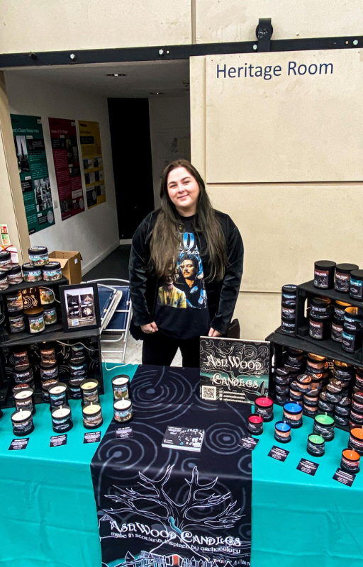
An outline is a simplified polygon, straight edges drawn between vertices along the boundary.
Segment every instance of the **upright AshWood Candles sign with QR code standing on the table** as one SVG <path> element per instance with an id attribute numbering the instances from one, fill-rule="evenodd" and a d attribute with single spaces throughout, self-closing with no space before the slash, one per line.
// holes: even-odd
<path id="1" fill-rule="evenodd" d="M 255 403 L 269 387 L 269 342 L 201 337 L 201 398 Z"/>

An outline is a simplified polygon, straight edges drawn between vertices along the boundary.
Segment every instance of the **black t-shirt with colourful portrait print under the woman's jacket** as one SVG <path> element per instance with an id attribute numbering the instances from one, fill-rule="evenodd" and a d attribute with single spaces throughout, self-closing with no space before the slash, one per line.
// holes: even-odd
<path id="1" fill-rule="evenodd" d="M 177 268 L 168 281 L 159 281 L 155 322 L 157 327 L 176 339 L 208 335 L 209 312 L 204 286 L 203 264 L 193 232 L 194 217 L 184 217 Z M 180 225 L 180 230 L 183 230 Z"/>

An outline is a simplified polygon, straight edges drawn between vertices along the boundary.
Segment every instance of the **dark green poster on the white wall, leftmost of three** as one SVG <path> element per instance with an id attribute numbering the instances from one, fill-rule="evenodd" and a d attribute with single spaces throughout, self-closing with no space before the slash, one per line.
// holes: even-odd
<path id="1" fill-rule="evenodd" d="M 11 114 L 29 234 L 55 224 L 40 116 Z"/>

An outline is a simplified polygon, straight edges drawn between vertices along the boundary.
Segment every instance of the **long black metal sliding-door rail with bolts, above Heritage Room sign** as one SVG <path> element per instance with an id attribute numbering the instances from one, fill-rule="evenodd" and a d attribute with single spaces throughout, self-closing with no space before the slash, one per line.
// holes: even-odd
<path id="1" fill-rule="evenodd" d="M 233 43 L 201 43 L 194 45 L 162 45 L 159 47 L 124 47 L 121 49 L 94 49 L 43 51 L 0 54 L 0 68 L 45 67 L 91 63 L 123 63 L 133 61 L 185 60 L 199 55 L 227 55 L 257 52 L 257 41 Z M 363 47 L 363 35 L 340 38 L 296 38 L 271 40 L 270 52 L 351 49 Z"/>

